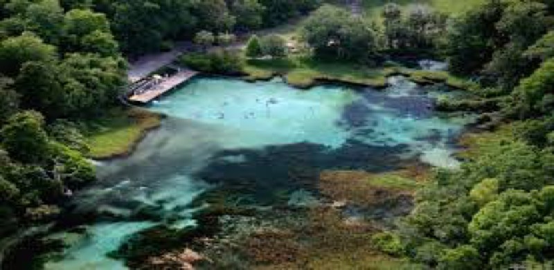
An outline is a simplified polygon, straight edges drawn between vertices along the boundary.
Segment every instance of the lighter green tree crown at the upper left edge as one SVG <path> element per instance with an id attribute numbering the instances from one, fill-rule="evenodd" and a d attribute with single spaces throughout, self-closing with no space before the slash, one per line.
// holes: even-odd
<path id="1" fill-rule="evenodd" d="M 55 47 L 44 44 L 31 33 L 10 37 L 0 43 L 0 73 L 15 76 L 26 62 L 51 62 L 55 59 Z"/>

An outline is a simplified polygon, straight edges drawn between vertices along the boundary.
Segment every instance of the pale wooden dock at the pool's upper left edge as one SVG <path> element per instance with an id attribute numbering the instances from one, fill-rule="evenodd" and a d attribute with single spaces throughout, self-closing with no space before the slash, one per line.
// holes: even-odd
<path id="1" fill-rule="evenodd" d="M 154 86 L 148 89 L 136 89 L 134 93 L 129 96 L 128 99 L 132 102 L 139 102 L 143 104 L 148 103 L 158 98 L 159 96 L 162 96 L 164 93 L 171 91 L 179 84 L 190 80 L 190 78 L 193 78 L 197 74 L 197 71 L 179 71 L 175 75 L 172 75 L 168 78 L 159 79 L 159 83 L 154 84 Z"/>

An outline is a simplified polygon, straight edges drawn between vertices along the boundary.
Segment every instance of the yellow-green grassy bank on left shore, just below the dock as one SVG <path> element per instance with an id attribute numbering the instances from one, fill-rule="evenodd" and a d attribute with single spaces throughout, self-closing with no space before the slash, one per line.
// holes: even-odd
<path id="1" fill-rule="evenodd" d="M 85 132 L 92 159 L 110 159 L 130 154 L 150 129 L 159 127 L 162 116 L 140 108 L 117 109 L 88 123 Z"/>

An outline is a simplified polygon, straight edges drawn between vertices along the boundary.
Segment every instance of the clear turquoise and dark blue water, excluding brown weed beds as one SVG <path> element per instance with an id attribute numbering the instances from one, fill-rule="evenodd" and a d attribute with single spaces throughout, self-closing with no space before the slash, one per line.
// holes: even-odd
<path id="1" fill-rule="evenodd" d="M 98 164 L 100 181 L 73 204 L 99 221 L 86 235 L 53 235 L 69 248 L 47 269 L 125 269 L 105 254 L 154 224 L 195 224 L 190 203 L 206 190 L 240 188 L 237 204 L 271 206 L 285 196 L 311 205 L 319 170 L 377 172 L 415 160 L 456 168 L 452 140 L 471 117 L 439 116 L 436 93 L 389 80 L 382 91 L 193 80 L 150 107 L 168 118 L 132 156 Z"/>

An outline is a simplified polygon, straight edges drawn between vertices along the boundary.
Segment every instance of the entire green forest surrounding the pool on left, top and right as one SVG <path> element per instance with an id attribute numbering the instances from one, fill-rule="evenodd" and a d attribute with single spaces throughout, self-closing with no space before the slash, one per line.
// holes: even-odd
<path id="1" fill-rule="evenodd" d="M 554 1 L 483 0 L 456 14 L 387 1 L 377 18 L 343 2 L 0 0 L 0 237 L 63 218 L 96 181 L 87 123 L 125 106 L 129 62 L 185 42 L 199 49 L 180 64 L 247 80 L 379 87 L 401 73 L 464 88 L 470 98 L 437 109 L 488 128 L 463 136 L 461 168 L 432 169 L 413 210 L 368 242 L 422 269 L 554 263 Z M 298 39 L 265 33 L 298 19 Z M 225 48 L 240 42 L 244 53 Z M 391 64 L 414 56 L 447 73 Z"/>

